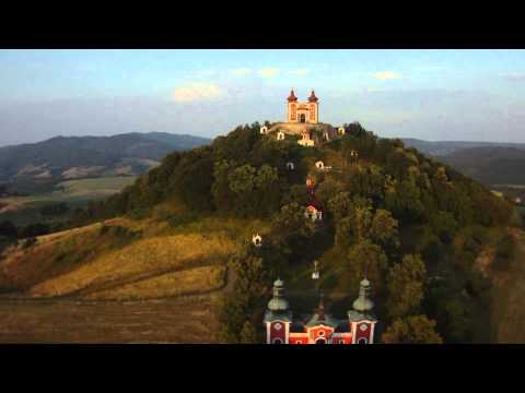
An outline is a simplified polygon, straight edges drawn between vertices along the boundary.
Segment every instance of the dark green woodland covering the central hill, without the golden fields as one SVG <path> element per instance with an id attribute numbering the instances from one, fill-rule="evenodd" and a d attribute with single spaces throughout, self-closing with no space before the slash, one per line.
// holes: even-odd
<path id="1" fill-rule="evenodd" d="M 368 271 L 385 342 L 495 340 L 491 276 L 508 269 L 514 250 L 504 229 L 513 218 L 510 203 L 359 123 L 315 147 L 302 147 L 292 136 L 276 141 L 259 127 L 238 127 L 209 146 L 170 154 L 133 186 L 93 204 L 88 216 L 148 217 L 171 203 L 178 213 L 160 219 L 172 225 L 210 215 L 268 223 L 264 247 L 246 241 L 232 259 L 237 279 L 219 312 L 226 342 L 260 338 L 276 272 L 291 289 L 307 287 L 313 259 L 323 266 L 324 293 L 349 294 L 334 310 L 351 307 Z M 317 170 L 319 159 L 331 169 Z M 307 176 L 325 213 L 322 226 L 303 214 Z M 493 258 L 481 269 L 478 255 L 487 247 Z"/>

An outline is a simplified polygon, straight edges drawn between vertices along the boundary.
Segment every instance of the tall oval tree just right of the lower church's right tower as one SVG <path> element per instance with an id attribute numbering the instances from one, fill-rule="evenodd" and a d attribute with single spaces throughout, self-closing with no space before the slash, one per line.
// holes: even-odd
<path id="1" fill-rule="evenodd" d="M 423 299 L 427 270 L 419 255 L 407 254 L 388 271 L 386 309 L 390 319 L 416 311 Z"/>

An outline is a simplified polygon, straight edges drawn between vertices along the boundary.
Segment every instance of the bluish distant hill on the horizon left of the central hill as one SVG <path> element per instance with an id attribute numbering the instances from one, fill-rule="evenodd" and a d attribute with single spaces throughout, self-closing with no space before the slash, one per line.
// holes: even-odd
<path id="1" fill-rule="evenodd" d="M 210 140 L 164 132 L 114 136 L 57 136 L 0 147 L 0 181 L 60 181 L 83 177 L 139 175 L 168 153 Z"/>

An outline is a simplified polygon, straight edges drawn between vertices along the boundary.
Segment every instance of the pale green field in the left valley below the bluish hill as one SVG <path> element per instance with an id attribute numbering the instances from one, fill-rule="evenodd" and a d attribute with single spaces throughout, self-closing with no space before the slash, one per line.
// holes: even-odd
<path id="1" fill-rule="evenodd" d="M 50 192 L 36 193 L 28 196 L 0 198 L 0 221 L 9 219 L 15 225 L 27 225 L 49 217 L 42 216 L 39 209 L 54 203 L 68 203 L 71 207 L 85 205 L 119 192 L 126 186 L 133 183 L 135 176 L 106 177 L 62 181 Z M 56 219 L 56 217 L 54 218 Z"/>

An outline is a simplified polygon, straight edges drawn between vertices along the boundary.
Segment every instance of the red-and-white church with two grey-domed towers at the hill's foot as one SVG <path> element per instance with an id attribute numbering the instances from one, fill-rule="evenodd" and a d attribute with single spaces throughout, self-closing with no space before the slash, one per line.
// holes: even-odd
<path id="1" fill-rule="evenodd" d="M 366 278 L 361 282 L 353 309 L 343 320 L 326 313 L 323 296 L 312 315 L 294 318 L 283 290 L 283 282 L 277 279 L 264 320 L 267 344 L 373 344 L 377 319 L 372 312 L 374 303 L 369 299 Z"/>

